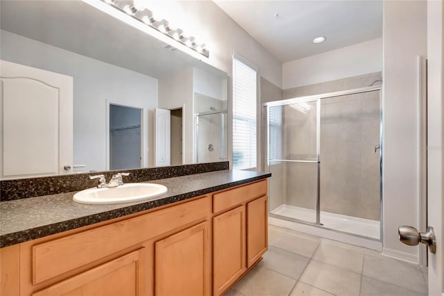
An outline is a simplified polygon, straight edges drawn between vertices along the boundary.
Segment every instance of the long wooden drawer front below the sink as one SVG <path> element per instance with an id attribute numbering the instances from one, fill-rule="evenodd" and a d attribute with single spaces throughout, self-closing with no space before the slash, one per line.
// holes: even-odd
<path id="1" fill-rule="evenodd" d="M 210 198 L 171 206 L 32 247 L 33 283 L 80 268 L 162 233 L 210 215 Z"/>

